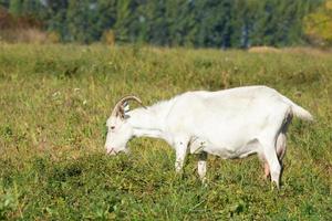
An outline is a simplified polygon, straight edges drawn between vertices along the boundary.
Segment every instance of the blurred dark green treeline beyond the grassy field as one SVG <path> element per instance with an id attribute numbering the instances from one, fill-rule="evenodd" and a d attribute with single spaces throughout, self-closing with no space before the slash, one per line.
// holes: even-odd
<path id="1" fill-rule="evenodd" d="M 0 0 L 0 31 L 10 33 L 19 27 L 15 33 L 22 33 L 30 25 L 48 33 L 52 42 L 195 48 L 322 44 L 329 40 L 317 30 L 321 17 L 315 13 L 326 13 L 320 10 L 325 6 L 324 0 Z"/>

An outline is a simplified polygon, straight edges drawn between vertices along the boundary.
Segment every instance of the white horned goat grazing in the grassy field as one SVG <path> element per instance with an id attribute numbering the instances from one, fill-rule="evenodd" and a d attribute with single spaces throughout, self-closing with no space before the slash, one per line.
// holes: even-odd
<path id="1" fill-rule="evenodd" d="M 312 120 L 309 112 L 267 86 L 246 86 L 219 92 L 187 92 L 149 107 L 125 112 L 122 98 L 107 119 L 108 154 L 127 151 L 133 137 L 165 139 L 176 150 L 175 169 L 181 171 L 187 149 L 197 154 L 198 175 L 204 180 L 207 154 L 243 158 L 258 154 L 264 175 L 279 187 L 286 133 L 292 116 Z"/>

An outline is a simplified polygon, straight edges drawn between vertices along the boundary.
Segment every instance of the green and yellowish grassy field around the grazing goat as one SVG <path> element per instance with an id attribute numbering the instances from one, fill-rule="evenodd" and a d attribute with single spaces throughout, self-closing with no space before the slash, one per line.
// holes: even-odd
<path id="1" fill-rule="evenodd" d="M 104 154 L 115 102 L 264 84 L 315 117 L 293 120 L 281 190 L 256 156 L 196 158 L 164 141 Z M 332 53 L 0 44 L 0 220 L 332 220 Z"/>

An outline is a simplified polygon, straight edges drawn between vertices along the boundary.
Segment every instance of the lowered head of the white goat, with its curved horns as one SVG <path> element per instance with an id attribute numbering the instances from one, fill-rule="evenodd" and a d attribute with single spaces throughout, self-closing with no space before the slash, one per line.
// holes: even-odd
<path id="1" fill-rule="evenodd" d="M 105 148 L 107 154 L 115 155 L 120 151 L 128 151 L 126 145 L 134 135 L 134 129 L 132 125 L 128 124 L 128 116 L 126 115 L 128 101 L 135 101 L 143 106 L 142 101 L 133 95 L 125 96 L 116 103 L 106 122 L 107 137 Z"/>

